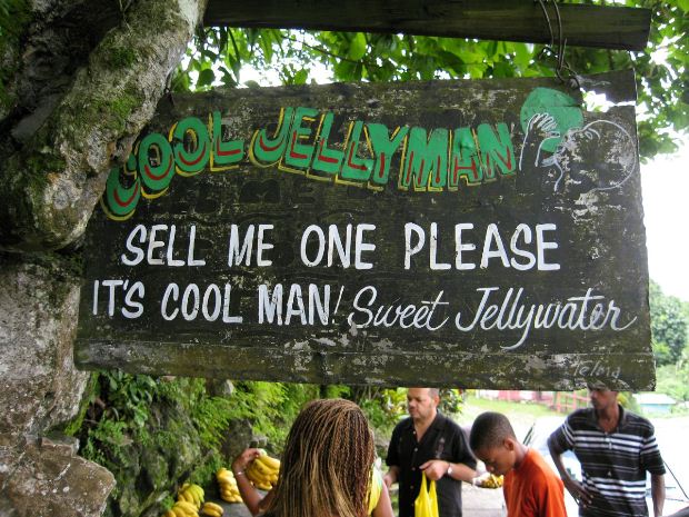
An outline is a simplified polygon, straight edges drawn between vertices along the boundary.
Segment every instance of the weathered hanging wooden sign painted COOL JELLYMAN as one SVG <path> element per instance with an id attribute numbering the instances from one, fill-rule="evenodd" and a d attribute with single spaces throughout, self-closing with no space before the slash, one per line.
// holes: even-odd
<path id="1" fill-rule="evenodd" d="M 319 384 L 655 382 L 633 74 L 161 102 L 84 243 L 84 368 Z"/>

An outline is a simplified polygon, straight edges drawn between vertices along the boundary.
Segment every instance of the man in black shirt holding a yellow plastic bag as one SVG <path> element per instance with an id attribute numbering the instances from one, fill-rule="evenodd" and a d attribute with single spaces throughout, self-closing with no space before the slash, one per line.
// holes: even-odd
<path id="1" fill-rule="evenodd" d="M 385 483 L 399 481 L 399 517 L 413 517 L 421 471 L 436 480 L 440 517 L 461 517 L 461 481 L 471 483 L 476 459 L 457 424 L 438 412 L 436 388 L 409 388 L 409 418 L 397 425 L 388 448 Z"/>

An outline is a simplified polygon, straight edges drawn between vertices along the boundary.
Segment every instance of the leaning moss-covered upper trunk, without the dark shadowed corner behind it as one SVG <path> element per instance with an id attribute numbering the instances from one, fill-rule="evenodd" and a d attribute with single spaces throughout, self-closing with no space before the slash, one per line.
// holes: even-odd
<path id="1" fill-rule="evenodd" d="M 0 147 L 0 249 L 54 250 L 81 236 L 110 167 L 128 157 L 152 116 L 204 7 L 204 0 L 133 2 L 43 120 L 8 115 L 0 121 L 13 137 Z M 17 73 L 32 70 L 24 66 Z"/>

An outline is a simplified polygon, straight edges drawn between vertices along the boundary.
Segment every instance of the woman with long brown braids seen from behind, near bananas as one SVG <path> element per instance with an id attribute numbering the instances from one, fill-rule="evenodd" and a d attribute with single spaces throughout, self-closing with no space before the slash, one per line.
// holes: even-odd
<path id="1" fill-rule="evenodd" d="M 263 499 L 243 475 L 258 455 L 258 449 L 247 449 L 232 463 L 239 491 L 252 515 L 366 517 L 370 514 L 369 494 L 378 491 L 371 490 L 373 434 L 356 404 L 322 399 L 303 407 L 289 431 L 278 483 Z M 380 497 L 371 515 L 392 517 L 387 487 L 380 486 Z"/>

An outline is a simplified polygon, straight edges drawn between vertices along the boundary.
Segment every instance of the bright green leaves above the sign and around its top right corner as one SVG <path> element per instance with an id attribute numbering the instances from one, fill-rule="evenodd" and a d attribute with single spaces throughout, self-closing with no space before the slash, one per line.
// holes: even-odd
<path id="1" fill-rule="evenodd" d="M 605 0 L 586 3 L 605 3 Z M 619 3 L 619 2 L 618 2 Z M 689 126 L 686 0 L 627 0 L 651 9 L 649 44 L 642 52 L 567 48 L 577 73 L 635 68 L 639 82 L 640 151 L 645 158 L 677 149 L 677 133 Z M 241 80 L 248 69 L 261 83 L 303 84 L 333 81 L 410 81 L 449 78 L 553 76 L 555 59 L 543 46 L 458 38 L 279 29 L 207 28 L 177 70 L 176 90 L 214 86 L 258 86 Z"/>

